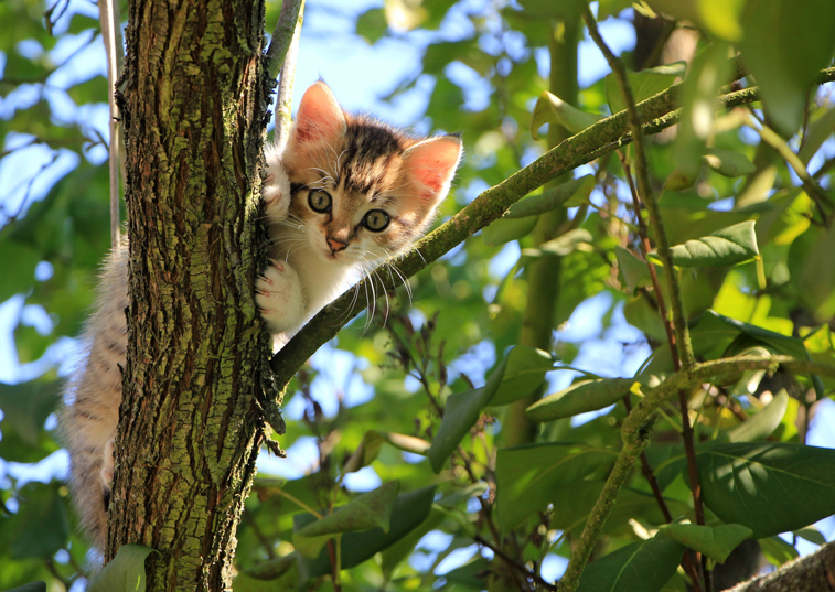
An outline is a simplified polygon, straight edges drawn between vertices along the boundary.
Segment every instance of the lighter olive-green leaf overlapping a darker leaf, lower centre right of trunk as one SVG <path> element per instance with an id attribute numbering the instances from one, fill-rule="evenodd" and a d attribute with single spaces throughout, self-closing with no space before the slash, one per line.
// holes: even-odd
<path id="1" fill-rule="evenodd" d="M 304 557 L 314 558 L 328 539 L 333 536 L 372 528 L 381 528 L 387 532 L 399 487 L 398 481 L 384 483 L 373 492 L 363 494 L 338 508 L 333 514 L 293 532 L 292 540 L 296 550 Z"/>

